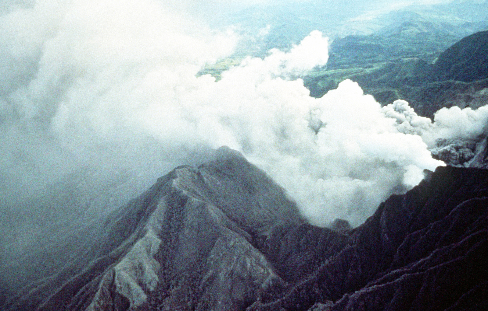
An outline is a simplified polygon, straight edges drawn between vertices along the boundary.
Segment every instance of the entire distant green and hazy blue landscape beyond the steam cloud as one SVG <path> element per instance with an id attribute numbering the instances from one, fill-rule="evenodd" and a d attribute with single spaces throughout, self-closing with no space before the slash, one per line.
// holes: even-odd
<path id="1" fill-rule="evenodd" d="M 237 26 L 242 45 L 234 56 L 199 74 L 219 79 L 243 55 L 264 56 L 275 47 L 286 50 L 318 29 L 331 43 L 326 68 L 303 77 L 311 96 L 321 97 L 351 79 L 383 105 L 405 99 L 419 115 L 431 118 L 442 107 L 475 109 L 487 102 L 487 1 L 366 13 L 362 4 L 346 4 L 351 10 L 336 12 L 338 6 L 327 1 L 255 5 L 228 14 L 216 23 Z"/>

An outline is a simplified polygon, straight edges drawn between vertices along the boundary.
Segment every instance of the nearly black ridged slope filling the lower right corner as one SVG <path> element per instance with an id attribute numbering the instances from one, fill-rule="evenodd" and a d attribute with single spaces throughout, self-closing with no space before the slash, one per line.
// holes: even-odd
<path id="1" fill-rule="evenodd" d="M 250 310 L 486 310 L 487 208 L 486 170 L 439 167 L 313 275 Z"/>

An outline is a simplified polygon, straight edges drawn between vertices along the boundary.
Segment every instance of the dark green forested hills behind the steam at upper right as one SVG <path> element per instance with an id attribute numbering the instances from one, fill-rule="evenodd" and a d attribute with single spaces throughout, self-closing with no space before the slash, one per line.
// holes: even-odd
<path id="1" fill-rule="evenodd" d="M 431 118 L 442 107 L 486 105 L 488 31 L 463 38 L 430 64 L 423 59 L 429 53 L 421 42 L 435 41 L 436 36 L 417 35 L 415 44 L 404 35 L 338 39 L 331 45 L 327 69 L 306 76 L 305 86 L 312 96 L 321 97 L 339 82 L 351 79 L 383 105 L 405 99 L 418 114 Z M 411 57 L 400 58 L 401 53 Z"/>

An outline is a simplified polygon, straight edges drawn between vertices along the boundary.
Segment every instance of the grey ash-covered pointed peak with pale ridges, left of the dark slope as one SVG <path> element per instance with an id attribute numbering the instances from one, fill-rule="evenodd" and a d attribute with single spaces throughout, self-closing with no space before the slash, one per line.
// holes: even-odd
<path id="1" fill-rule="evenodd" d="M 241 310 L 283 282 L 255 240 L 303 222 L 236 151 L 177 167 L 137 199 L 19 260 L 6 310 Z M 14 279 L 16 275 L 12 275 Z"/>

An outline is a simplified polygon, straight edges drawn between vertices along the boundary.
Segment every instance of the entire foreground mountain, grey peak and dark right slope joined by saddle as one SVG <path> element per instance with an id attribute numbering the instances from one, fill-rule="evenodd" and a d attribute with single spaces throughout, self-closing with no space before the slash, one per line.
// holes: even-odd
<path id="1" fill-rule="evenodd" d="M 23 257 L 5 310 L 486 310 L 488 171 L 439 167 L 337 230 L 220 148 Z M 28 268 L 25 268 L 28 267 Z"/>

